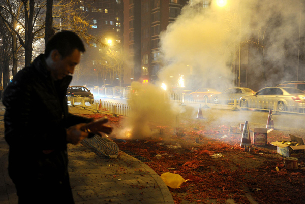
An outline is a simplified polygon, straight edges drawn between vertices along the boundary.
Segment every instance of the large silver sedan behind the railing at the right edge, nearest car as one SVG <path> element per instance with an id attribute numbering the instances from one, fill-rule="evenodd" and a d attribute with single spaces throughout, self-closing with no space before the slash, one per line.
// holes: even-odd
<path id="1" fill-rule="evenodd" d="M 277 111 L 287 111 L 290 108 L 304 105 L 305 93 L 291 87 L 266 87 L 254 95 L 240 98 L 241 108 L 273 109 L 277 103 Z"/>

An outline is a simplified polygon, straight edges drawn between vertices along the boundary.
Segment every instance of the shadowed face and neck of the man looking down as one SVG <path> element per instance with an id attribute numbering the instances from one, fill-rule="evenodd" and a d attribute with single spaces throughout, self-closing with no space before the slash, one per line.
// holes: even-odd
<path id="1" fill-rule="evenodd" d="M 81 53 L 78 49 L 75 49 L 72 54 L 62 58 L 57 50 L 56 52 L 56 56 L 53 58 L 54 66 L 51 75 L 55 80 L 59 80 L 74 73 L 75 66 L 80 62 Z"/>

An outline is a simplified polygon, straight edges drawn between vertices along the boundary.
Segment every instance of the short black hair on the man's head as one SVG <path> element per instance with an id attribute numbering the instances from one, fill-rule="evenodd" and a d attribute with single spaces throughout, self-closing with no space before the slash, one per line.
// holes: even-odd
<path id="1" fill-rule="evenodd" d="M 75 49 L 80 52 L 86 51 L 82 40 L 76 33 L 71 31 L 57 32 L 46 45 L 45 57 L 47 58 L 52 50 L 58 50 L 62 58 L 65 58 L 72 54 Z"/>

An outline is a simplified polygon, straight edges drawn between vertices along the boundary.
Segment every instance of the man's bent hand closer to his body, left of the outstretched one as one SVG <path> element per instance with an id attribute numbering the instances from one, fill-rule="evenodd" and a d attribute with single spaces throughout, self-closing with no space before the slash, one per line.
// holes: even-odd
<path id="1" fill-rule="evenodd" d="M 69 127 L 67 131 L 67 142 L 73 145 L 79 144 L 83 139 L 88 137 L 88 133 L 81 130 L 86 123 L 80 123 Z"/>

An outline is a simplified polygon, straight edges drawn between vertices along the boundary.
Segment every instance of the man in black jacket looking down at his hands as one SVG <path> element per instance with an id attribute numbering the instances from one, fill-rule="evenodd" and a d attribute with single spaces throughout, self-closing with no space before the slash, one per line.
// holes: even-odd
<path id="1" fill-rule="evenodd" d="M 59 32 L 45 54 L 20 70 L 5 89 L 9 175 L 19 203 L 74 203 L 67 143 L 86 138 L 81 127 L 92 119 L 68 113 L 66 91 L 84 51 L 75 33 Z"/>

